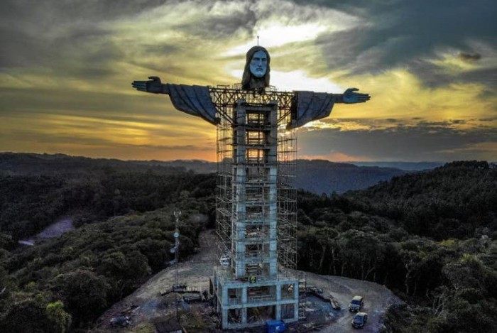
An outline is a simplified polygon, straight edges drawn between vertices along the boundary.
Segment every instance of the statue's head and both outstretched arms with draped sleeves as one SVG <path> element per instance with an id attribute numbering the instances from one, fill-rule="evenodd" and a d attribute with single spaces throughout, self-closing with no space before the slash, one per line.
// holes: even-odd
<path id="1" fill-rule="evenodd" d="M 249 93 L 252 96 L 268 97 L 268 100 L 283 102 L 280 99 L 291 95 L 290 105 L 291 121 L 288 129 L 295 129 L 309 121 L 322 119 L 332 111 L 335 103 L 363 103 L 370 99 L 369 94 L 357 92 L 359 89 L 349 88 L 343 94 L 329 94 L 327 92 L 274 92 L 270 89 L 271 57 L 266 48 L 253 46 L 246 54 L 244 75 L 239 89 L 231 89 L 231 93 L 241 96 Z M 206 87 L 186 84 L 162 83 L 159 77 L 148 77 L 148 81 L 133 81 L 133 88 L 141 92 L 154 94 L 168 94 L 176 109 L 200 116 L 211 124 L 219 124 L 219 116 L 223 110 L 219 104 L 213 102 L 212 93 L 219 92 L 221 88 Z M 224 91 L 227 91 L 224 89 Z M 236 101 L 234 101 L 236 102 Z M 280 103 L 284 104 L 284 103 Z"/>

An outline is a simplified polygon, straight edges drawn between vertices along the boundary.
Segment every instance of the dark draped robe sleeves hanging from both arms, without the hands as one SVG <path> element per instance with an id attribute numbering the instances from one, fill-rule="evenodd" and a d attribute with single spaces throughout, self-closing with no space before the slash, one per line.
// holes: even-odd
<path id="1" fill-rule="evenodd" d="M 186 84 L 165 84 L 165 86 L 176 109 L 193 116 L 200 116 L 211 124 L 219 124 L 209 87 Z M 333 94 L 326 92 L 295 92 L 294 94 L 288 129 L 296 129 L 310 121 L 325 118 L 332 112 L 335 102 Z"/>

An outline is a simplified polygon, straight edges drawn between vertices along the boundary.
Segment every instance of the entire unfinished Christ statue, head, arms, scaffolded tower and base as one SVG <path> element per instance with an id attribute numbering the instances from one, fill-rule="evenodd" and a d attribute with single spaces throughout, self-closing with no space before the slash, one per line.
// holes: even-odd
<path id="1" fill-rule="evenodd" d="M 224 329 L 263 324 L 264 316 L 251 319 L 254 302 L 263 302 L 275 320 L 298 320 L 299 280 L 283 273 L 296 263 L 292 129 L 328 116 L 334 103 L 369 99 L 355 88 L 343 94 L 280 92 L 269 84 L 270 62 L 266 48 L 251 48 L 241 84 L 234 87 L 163 84 L 158 77 L 132 84 L 142 92 L 168 94 L 176 109 L 217 126 L 221 251 L 211 285 Z M 284 299 L 282 289 L 287 290 Z M 236 302 L 229 297 L 233 290 L 238 290 Z"/>

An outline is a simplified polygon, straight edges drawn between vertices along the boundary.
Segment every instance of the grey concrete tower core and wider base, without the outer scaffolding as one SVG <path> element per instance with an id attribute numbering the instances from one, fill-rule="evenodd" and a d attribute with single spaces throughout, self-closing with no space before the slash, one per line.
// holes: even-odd
<path id="1" fill-rule="evenodd" d="M 231 146 L 232 153 L 220 161 L 228 165 L 221 170 L 217 207 L 218 224 L 229 224 L 219 232 L 231 241 L 213 279 L 222 327 L 293 322 L 298 280 L 278 269 L 278 104 L 239 100 L 234 119 L 231 144 L 218 146 Z"/>

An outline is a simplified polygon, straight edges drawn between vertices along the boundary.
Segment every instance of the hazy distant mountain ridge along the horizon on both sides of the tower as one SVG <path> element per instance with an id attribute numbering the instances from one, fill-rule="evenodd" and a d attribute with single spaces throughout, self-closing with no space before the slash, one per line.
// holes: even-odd
<path id="1" fill-rule="evenodd" d="M 329 160 L 296 160 L 294 186 L 317 194 L 361 190 L 403 175 L 405 170 L 357 166 Z M 0 153 L 0 173 L 10 175 L 77 175 L 111 172 L 215 173 L 217 163 L 206 160 L 117 160 L 65 154 Z"/>

